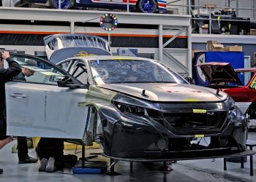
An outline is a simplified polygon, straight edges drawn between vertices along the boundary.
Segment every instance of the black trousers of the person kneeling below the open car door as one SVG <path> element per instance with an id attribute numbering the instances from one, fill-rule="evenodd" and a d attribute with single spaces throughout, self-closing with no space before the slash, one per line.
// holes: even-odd
<path id="1" fill-rule="evenodd" d="M 64 166 L 64 139 L 62 138 L 40 138 L 37 143 L 37 156 L 42 158 L 54 157 L 57 168 Z"/>

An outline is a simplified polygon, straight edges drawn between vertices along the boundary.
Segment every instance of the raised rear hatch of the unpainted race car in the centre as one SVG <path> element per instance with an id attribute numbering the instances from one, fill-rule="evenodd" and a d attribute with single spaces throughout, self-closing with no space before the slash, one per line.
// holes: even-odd
<path id="1" fill-rule="evenodd" d="M 44 37 L 45 52 L 53 63 L 86 55 L 112 55 L 108 41 L 99 36 L 63 33 Z"/>

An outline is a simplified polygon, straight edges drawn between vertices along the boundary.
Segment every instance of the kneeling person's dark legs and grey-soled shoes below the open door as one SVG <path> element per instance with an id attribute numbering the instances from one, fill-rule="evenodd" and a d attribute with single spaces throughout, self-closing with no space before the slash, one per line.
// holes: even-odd
<path id="1" fill-rule="evenodd" d="M 40 138 L 37 143 L 37 157 L 40 159 L 39 171 L 54 172 L 64 167 L 64 139 Z"/>

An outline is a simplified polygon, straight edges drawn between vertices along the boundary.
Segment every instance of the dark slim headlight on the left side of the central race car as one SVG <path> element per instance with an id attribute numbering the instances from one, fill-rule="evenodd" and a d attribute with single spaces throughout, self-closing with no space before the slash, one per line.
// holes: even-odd
<path id="1" fill-rule="evenodd" d="M 116 108 L 118 108 L 119 111 L 122 113 L 128 112 L 130 114 L 136 114 L 138 116 L 148 116 L 151 118 L 159 119 L 161 115 L 159 114 L 159 111 L 150 109 L 150 108 L 142 108 L 139 106 L 132 106 L 127 103 L 119 103 L 114 102 Z"/>

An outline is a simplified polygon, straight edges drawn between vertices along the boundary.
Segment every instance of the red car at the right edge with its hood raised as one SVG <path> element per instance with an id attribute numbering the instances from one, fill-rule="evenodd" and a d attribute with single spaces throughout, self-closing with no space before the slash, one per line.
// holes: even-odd
<path id="1" fill-rule="evenodd" d="M 233 69 L 230 63 L 197 65 L 208 79 L 208 86 L 226 92 L 249 119 L 256 119 L 256 68 Z"/>

